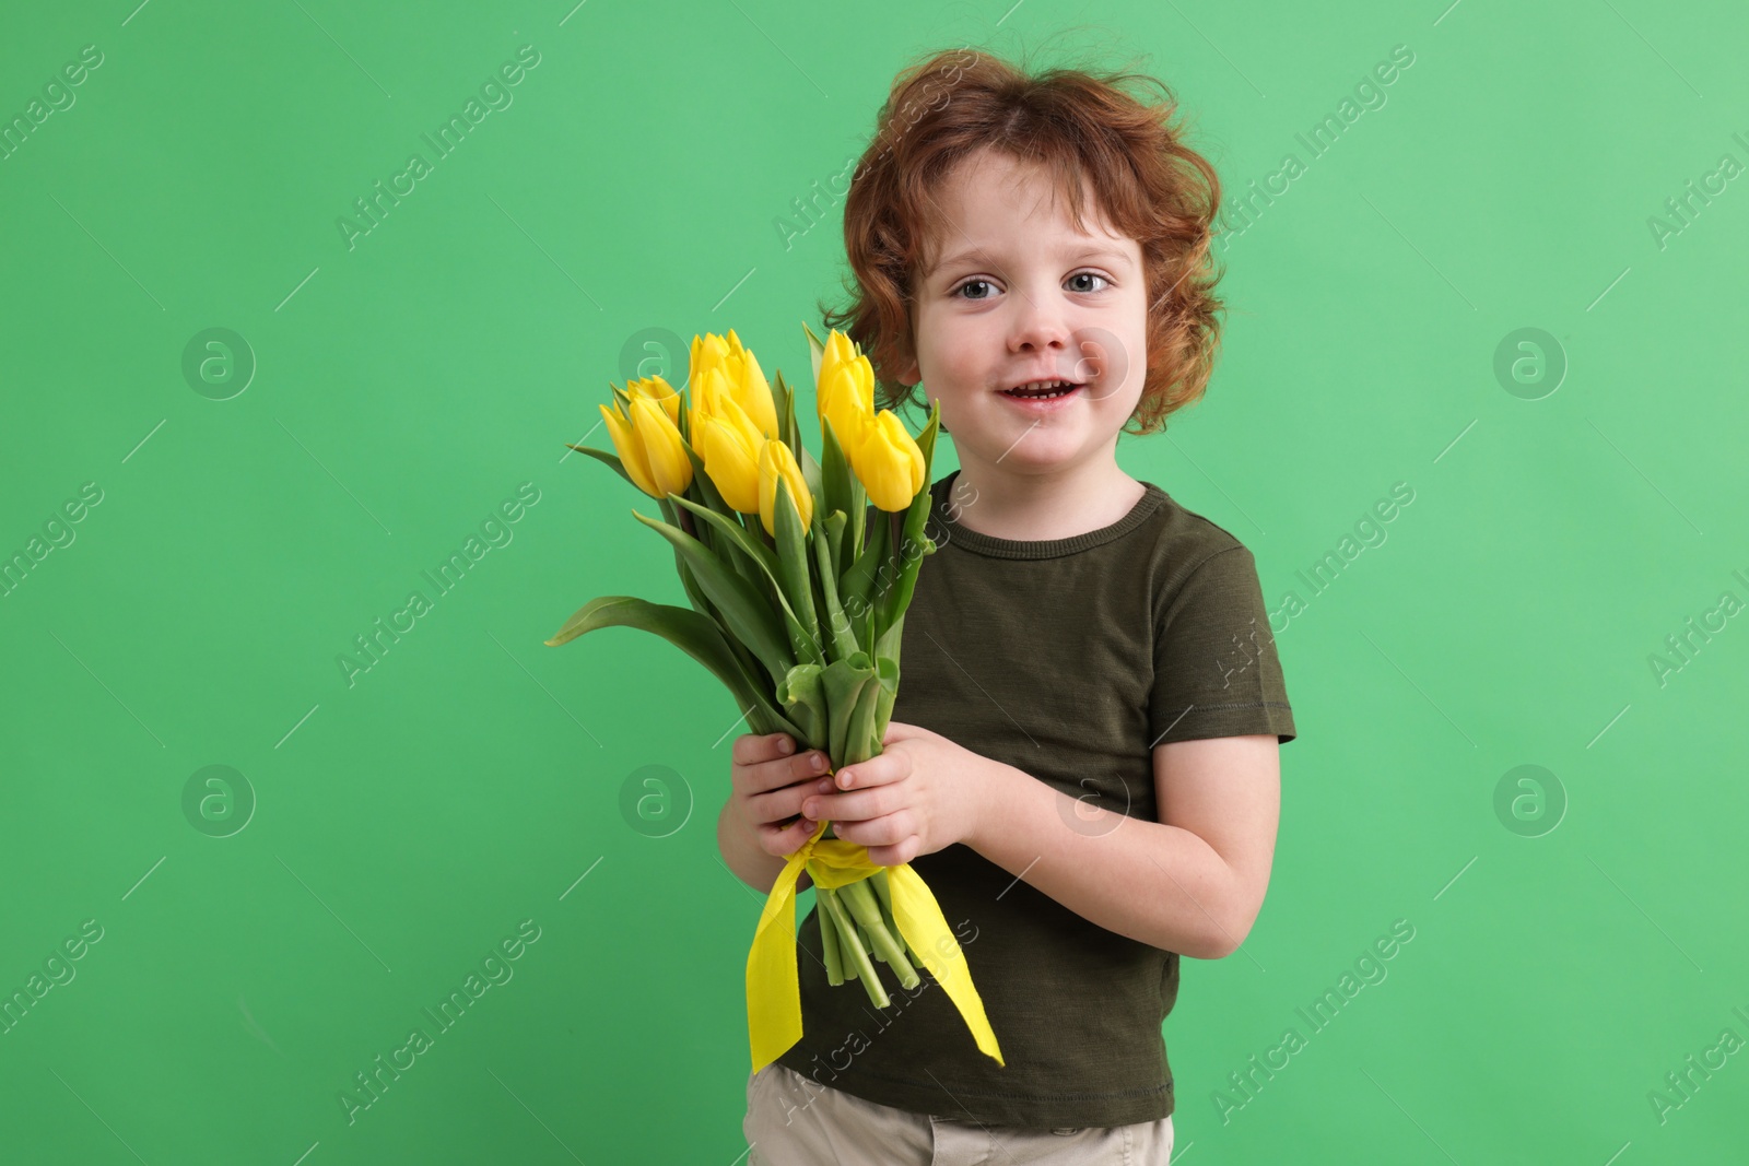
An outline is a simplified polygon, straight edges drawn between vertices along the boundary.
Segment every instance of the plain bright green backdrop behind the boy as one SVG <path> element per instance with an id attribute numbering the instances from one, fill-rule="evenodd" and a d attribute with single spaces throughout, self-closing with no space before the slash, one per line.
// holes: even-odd
<path id="1" fill-rule="evenodd" d="M 1186 961 L 1165 1026 L 1179 1152 L 1740 1154 L 1749 1054 L 1665 1080 L 1749 1040 L 1749 178 L 1665 208 L 1749 163 L 1739 9 L 121 0 L 5 24 L 7 122 L 101 52 L 0 161 L 0 554 L 72 535 L 0 596 L 0 991 L 101 928 L 0 1033 L 5 1161 L 745 1161 L 761 900 L 714 834 L 736 710 L 642 633 L 542 645 L 598 594 L 684 601 L 630 516 L 654 503 L 563 442 L 607 444 L 609 381 L 684 376 L 663 337 L 735 327 L 803 372 L 841 212 L 792 199 L 841 189 L 892 75 L 962 44 L 1135 59 L 1230 201 L 1303 164 L 1226 236 L 1207 400 L 1119 444 L 1254 551 L 1272 608 L 1305 605 L 1275 622 L 1301 736 L 1270 897 L 1237 954 Z M 432 161 L 422 135 L 523 45 L 511 105 Z M 1313 157 L 1296 135 L 1396 45 L 1385 103 Z M 413 152 L 430 173 L 348 246 Z M 247 386 L 184 372 L 208 329 Z M 537 502 L 490 523 L 518 488 Z M 434 598 L 422 572 L 505 535 Z M 415 589 L 430 610 L 348 680 Z M 187 809 L 208 766 L 231 799 Z M 514 977 L 348 1122 L 355 1075 L 525 920 Z M 1389 975 L 1313 1033 L 1298 1009 L 1397 920 Z M 1305 1047 L 1237 1093 L 1287 1028 Z"/>

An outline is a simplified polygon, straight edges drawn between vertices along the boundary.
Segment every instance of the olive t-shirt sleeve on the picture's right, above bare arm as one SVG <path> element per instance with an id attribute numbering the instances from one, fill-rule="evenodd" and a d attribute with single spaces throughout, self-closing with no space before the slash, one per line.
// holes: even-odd
<path id="1" fill-rule="evenodd" d="M 1216 551 L 1161 598 L 1147 715 L 1149 750 L 1258 732 L 1294 739 L 1258 565 L 1244 545 Z"/>

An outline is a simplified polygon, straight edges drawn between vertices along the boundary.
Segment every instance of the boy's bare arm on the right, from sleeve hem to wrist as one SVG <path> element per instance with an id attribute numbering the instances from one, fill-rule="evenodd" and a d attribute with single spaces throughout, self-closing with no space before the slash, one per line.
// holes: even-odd
<path id="1" fill-rule="evenodd" d="M 1245 940 L 1270 885 L 1279 750 L 1273 732 L 1156 746 L 1160 822 L 985 759 L 981 813 L 962 841 L 1109 932 L 1217 960 Z"/>

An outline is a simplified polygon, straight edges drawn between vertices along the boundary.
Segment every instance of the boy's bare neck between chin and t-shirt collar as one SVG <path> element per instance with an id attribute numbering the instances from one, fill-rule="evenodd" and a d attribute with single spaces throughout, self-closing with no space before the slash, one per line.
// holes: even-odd
<path id="1" fill-rule="evenodd" d="M 1074 538 L 1112 526 L 1147 493 L 1116 462 L 1055 474 L 1013 474 L 960 463 L 948 496 L 953 521 L 978 535 L 1013 542 Z"/>

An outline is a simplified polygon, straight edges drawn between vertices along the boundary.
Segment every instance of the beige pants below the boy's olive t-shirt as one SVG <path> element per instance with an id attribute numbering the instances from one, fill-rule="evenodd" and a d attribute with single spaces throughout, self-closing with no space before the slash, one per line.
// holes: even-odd
<path id="1" fill-rule="evenodd" d="M 876 1105 L 773 1061 L 747 1079 L 749 1166 L 1167 1166 L 1172 1119 L 1086 1129 L 983 1126 Z"/>

